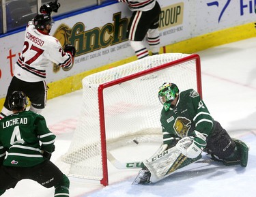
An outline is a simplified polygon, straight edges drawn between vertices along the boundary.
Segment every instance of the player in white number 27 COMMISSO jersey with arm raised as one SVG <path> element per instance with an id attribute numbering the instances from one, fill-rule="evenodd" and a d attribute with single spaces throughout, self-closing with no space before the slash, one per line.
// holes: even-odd
<path id="1" fill-rule="evenodd" d="M 57 12 L 59 3 L 42 5 L 46 9 L 28 22 L 23 51 L 15 64 L 14 76 L 1 110 L 0 119 L 12 114 L 8 97 L 14 91 L 23 91 L 31 102 L 30 109 L 40 113 L 46 106 L 46 67 L 52 63 L 69 70 L 74 63 L 75 48 L 68 44 L 62 48 L 59 40 L 49 35 L 53 25 L 51 12 Z"/>

